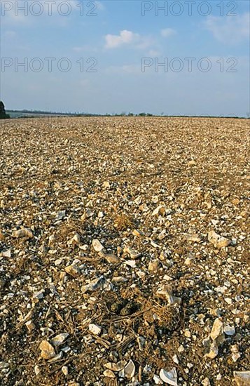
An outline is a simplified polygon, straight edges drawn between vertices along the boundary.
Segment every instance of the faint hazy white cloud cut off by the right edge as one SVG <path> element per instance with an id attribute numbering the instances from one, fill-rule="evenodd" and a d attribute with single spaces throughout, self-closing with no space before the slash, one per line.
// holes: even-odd
<path id="1" fill-rule="evenodd" d="M 249 12 L 225 19 L 209 15 L 205 21 L 205 27 L 218 41 L 227 44 L 236 44 L 244 39 L 249 39 L 249 20 Z"/>

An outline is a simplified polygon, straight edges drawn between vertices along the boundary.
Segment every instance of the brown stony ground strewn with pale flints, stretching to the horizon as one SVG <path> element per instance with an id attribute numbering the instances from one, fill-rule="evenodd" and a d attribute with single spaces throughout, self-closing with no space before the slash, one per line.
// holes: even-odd
<path id="1" fill-rule="evenodd" d="M 250 384 L 248 135 L 1 121 L 1 385 Z"/>

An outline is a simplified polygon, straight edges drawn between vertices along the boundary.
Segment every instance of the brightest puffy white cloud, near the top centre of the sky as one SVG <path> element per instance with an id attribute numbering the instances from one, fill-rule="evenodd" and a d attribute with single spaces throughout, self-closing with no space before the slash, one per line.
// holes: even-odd
<path id="1" fill-rule="evenodd" d="M 150 36 L 141 36 L 127 29 L 120 31 L 118 35 L 107 34 L 105 36 L 105 48 L 119 48 L 121 46 L 132 46 L 133 48 L 144 49 L 154 44 Z"/>

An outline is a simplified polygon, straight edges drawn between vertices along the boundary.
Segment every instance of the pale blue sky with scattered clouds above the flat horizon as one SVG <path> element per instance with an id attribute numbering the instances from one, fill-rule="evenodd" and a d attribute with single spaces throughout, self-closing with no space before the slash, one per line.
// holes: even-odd
<path id="1" fill-rule="evenodd" d="M 0 3 L 6 109 L 249 114 L 248 0 Z"/>

